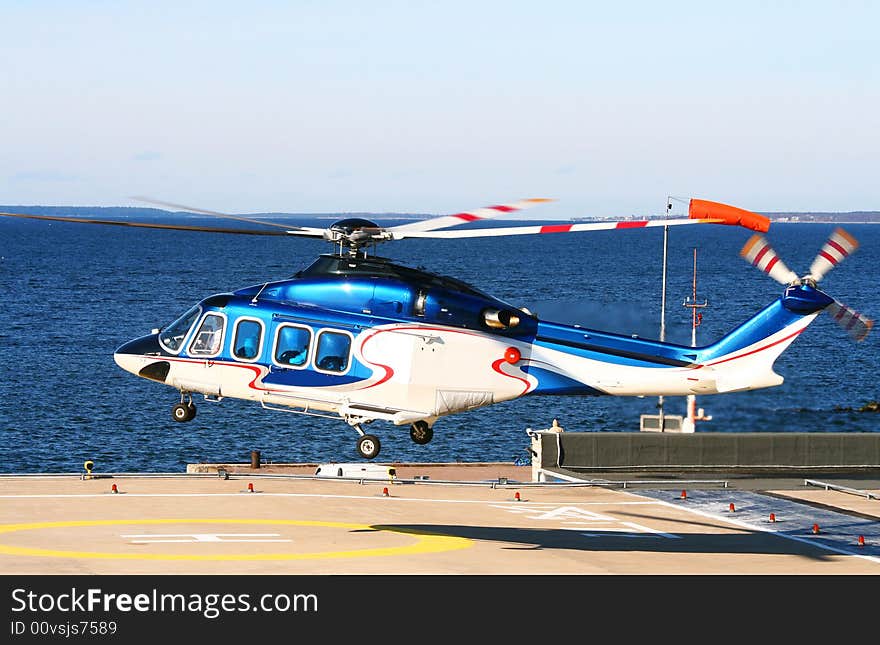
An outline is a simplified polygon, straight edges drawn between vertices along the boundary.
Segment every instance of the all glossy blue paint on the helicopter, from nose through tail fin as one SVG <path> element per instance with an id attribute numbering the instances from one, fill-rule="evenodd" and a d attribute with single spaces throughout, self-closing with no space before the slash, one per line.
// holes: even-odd
<path id="1" fill-rule="evenodd" d="M 376 365 L 367 365 L 352 352 L 344 367 L 322 369 L 316 340 L 352 341 L 378 326 L 411 324 L 424 329 L 468 330 L 502 342 L 509 339 L 522 354 L 519 368 L 536 382 L 529 393 L 599 395 L 605 392 L 574 378 L 552 364 L 532 360 L 539 349 L 562 352 L 570 357 L 612 365 L 651 370 L 697 368 L 720 356 L 749 347 L 786 328 L 798 318 L 833 302 L 809 285 L 792 286 L 782 298 L 770 303 L 751 319 L 719 341 L 690 347 L 657 340 L 539 321 L 535 316 L 452 278 L 445 278 L 392 264 L 382 258 L 347 258 L 323 255 L 308 269 L 287 280 L 253 285 L 233 293 L 216 294 L 199 304 L 197 320 L 211 313 L 225 321 L 223 344 L 206 356 L 193 352 L 199 329 L 194 322 L 177 353 L 157 341 L 156 335 L 135 339 L 117 352 L 159 355 L 178 360 L 223 361 L 268 369 L 263 383 L 271 386 L 325 387 L 375 378 Z M 504 312 L 516 318 L 509 325 L 490 324 L 487 312 Z M 247 359 L 237 355 L 234 344 L 240 321 L 258 321 L 259 346 Z M 307 330 L 308 358 L 288 365 L 281 361 L 276 344 L 279 330 L 293 326 Z M 332 336 L 332 338 L 331 338 Z M 354 346 L 354 343 L 351 343 Z M 598 367 L 597 367 L 598 369 Z M 161 375 L 155 368 L 146 378 Z M 512 378 L 516 378 L 512 376 Z M 529 389 L 529 388 L 526 388 Z"/>

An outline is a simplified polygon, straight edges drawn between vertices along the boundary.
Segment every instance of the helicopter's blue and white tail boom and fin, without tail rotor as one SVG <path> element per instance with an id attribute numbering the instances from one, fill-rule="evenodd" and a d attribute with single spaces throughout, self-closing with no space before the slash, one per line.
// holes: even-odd
<path id="1" fill-rule="evenodd" d="M 539 323 L 525 371 L 538 381 L 534 394 L 687 396 L 773 387 L 784 380 L 773 371 L 776 359 L 833 302 L 809 285 L 789 287 L 704 347 Z"/>

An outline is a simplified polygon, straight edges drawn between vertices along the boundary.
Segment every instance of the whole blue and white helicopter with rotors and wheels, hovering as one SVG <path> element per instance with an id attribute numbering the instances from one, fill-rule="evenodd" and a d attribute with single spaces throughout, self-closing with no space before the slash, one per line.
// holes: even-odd
<path id="1" fill-rule="evenodd" d="M 774 362 L 820 312 L 857 341 L 873 326 L 817 287 L 858 247 L 848 233 L 836 230 L 810 273 L 799 278 L 761 236 L 769 230 L 768 218 L 702 199 L 690 199 L 687 218 L 466 229 L 453 227 L 551 200 L 524 199 L 387 227 L 351 217 L 319 228 L 137 199 L 266 228 L 0 215 L 331 243 L 333 252 L 293 276 L 203 298 L 164 327 L 123 343 L 113 358 L 136 376 L 178 390 L 171 407 L 177 422 L 196 416 L 194 395 L 254 401 L 268 410 L 344 421 L 357 432 L 356 449 L 365 459 L 380 452 L 379 437 L 365 430 L 375 421 L 408 426 L 412 441 L 424 445 L 441 417 L 526 395 L 687 396 L 772 387 L 783 382 Z M 379 244 L 406 238 L 687 224 L 756 231 L 741 255 L 785 285 L 781 297 L 702 347 L 542 320 L 463 281 L 375 254 Z"/>

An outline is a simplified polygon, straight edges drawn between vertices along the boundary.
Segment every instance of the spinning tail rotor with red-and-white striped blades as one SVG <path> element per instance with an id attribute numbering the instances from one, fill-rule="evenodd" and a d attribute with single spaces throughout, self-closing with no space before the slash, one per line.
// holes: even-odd
<path id="1" fill-rule="evenodd" d="M 856 239 L 842 228 L 837 228 L 822 246 L 819 254 L 810 265 L 810 272 L 799 278 L 794 271 L 785 266 L 779 256 L 760 234 L 753 235 L 740 251 L 740 255 L 752 266 L 760 269 L 771 278 L 789 287 L 816 288 L 816 284 L 828 272 L 852 255 L 859 248 Z M 832 298 L 825 311 L 850 338 L 860 342 L 865 340 L 874 326 L 874 321 L 837 299 Z"/>

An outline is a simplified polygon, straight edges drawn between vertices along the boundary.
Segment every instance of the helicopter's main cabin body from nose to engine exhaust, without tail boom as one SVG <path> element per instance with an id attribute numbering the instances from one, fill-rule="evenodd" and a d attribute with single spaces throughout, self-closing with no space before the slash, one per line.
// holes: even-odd
<path id="1" fill-rule="evenodd" d="M 115 358 L 182 392 L 403 424 L 533 389 L 505 352 L 537 325 L 451 278 L 323 255 L 288 280 L 206 298 Z"/>

